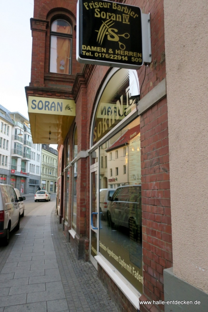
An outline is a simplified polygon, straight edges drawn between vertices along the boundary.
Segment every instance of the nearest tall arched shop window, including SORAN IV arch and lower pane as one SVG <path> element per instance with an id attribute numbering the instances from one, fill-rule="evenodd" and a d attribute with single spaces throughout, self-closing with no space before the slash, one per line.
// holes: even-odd
<path id="1" fill-rule="evenodd" d="M 113 73 L 100 92 L 91 130 L 91 154 L 99 149 L 97 248 L 142 293 L 140 117 L 129 99 L 139 94 L 138 76 L 128 69 Z"/>

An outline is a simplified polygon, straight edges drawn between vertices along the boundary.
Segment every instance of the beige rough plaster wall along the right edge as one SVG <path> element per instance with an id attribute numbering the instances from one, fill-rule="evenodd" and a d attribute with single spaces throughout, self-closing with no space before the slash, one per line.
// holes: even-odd
<path id="1" fill-rule="evenodd" d="M 174 274 L 208 292 L 208 1 L 164 0 Z"/>

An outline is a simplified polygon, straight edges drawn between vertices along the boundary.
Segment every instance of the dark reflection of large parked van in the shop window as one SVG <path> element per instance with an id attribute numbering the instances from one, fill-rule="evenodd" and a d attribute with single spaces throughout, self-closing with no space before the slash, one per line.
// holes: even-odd
<path id="1" fill-rule="evenodd" d="M 127 185 L 117 188 L 108 197 L 108 225 L 127 227 L 134 238 L 142 238 L 141 185 Z"/>

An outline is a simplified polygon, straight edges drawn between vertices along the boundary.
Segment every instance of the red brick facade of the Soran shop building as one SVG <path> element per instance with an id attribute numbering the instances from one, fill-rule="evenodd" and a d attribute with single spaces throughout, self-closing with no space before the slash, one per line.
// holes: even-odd
<path id="1" fill-rule="evenodd" d="M 117 1 L 121 2 L 121 1 Z M 125 1 L 150 13 L 152 63 L 146 69 L 141 90 L 141 99 L 166 78 L 163 1 Z M 56 17 L 67 16 L 72 25 L 72 74 L 49 72 L 50 25 Z M 105 66 L 79 64 L 76 61 L 76 1 L 34 0 L 34 17 L 31 19 L 32 65 L 31 82 L 26 95 L 74 99 L 76 117 L 59 146 L 58 166 L 61 160 L 60 222 L 65 221 L 65 183 L 67 146 L 70 145 L 70 161 L 73 159 L 74 129 L 78 132 L 78 153 L 89 149 L 90 129 L 95 102 L 104 79 L 111 70 Z M 138 70 L 140 87 L 144 79 L 145 66 Z M 169 183 L 167 98 L 163 98 L 140 116 L 141 168 L 142 168 L 142 224 L 143 224 L 143 295 L 141 300 L 163 300 L 163 269 L 172 266 L 172 230 Z M 81 135 L 80 135 L 81 134 Z M 71 211 L 64 232 L 74 246 L 77 258 L 89 260 L 89 156 L 77 160 L 77 229 L 75 238 L 69 235 Z M 59 167 L 58 167 L 59 168 Z M 72 187 L 73 167 L 69 171 L 69 187 Z M 58 171 L 59 172 L 59 171 Z M 69 194 L 69 203 L 72 194 Z M 136 309 L 126 299 L 107 273 L 99 266 L 98 274 L 109 294 L 118 301 L 122 312 Z M 140 311 L 164 310 L 163 306 L 140 305 Z"/>

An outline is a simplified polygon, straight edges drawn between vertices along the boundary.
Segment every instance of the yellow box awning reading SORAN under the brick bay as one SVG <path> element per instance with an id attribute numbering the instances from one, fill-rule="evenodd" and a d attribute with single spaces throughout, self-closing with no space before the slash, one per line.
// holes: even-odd
<path id="1" fill-rule="evenodd" d="M 75 119 L 74 100 L 28 97 L 28 115 L 33 143 L 63 144 Z"/>

